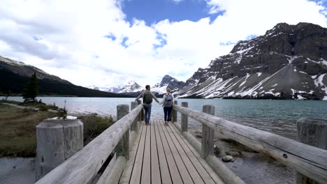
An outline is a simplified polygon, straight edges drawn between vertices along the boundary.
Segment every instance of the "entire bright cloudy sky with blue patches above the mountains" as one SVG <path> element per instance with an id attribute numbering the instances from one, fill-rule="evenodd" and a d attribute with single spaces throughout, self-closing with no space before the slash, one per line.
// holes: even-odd
<path id="1" fill-rule="evenodd" d="M 279 22 L 327 27 L 327 0 L 1 0 L 0 55 L 81 86 L 145 86 Z"/>

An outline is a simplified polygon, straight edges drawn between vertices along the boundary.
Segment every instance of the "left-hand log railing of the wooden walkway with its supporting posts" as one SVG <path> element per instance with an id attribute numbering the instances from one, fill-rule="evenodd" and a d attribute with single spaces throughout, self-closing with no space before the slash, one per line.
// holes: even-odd
<path id="1" fill-rule="evenodd" d="M 129 112 L 129 105 L 118 105 L 116 123 L 37 183 L 90 183 L 115 148 L 117 159 L 110 161 L 104 171 L 106 174 L 103 174 L 98 183 L 117 180 L 115 171 L 122 171 L 122 165 L 129 159 L 129 146 L 136 135 L 140 111 L 143 109 L 143 105 L 138 105 L 137 102 L 131 102 L 131 107 L 133 110 Z"/>

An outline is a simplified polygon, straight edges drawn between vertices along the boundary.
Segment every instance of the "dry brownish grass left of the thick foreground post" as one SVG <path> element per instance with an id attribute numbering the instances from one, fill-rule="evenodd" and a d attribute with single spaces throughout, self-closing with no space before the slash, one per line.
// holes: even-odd
<path id="1" fill-rule="evenodd" d="M 36 155 L 36 125 L 61 113 L 19 109 L 0 103 L 0 157 Z"/>

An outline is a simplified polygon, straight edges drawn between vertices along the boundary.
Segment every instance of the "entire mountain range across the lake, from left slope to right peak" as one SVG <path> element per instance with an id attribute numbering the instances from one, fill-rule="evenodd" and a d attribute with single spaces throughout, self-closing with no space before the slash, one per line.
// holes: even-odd
<path id="1" fill-rule="evenodd" d="M 124 97 L 145 86 L 75 86 L 34 66 L 0 56 L 0 93 L 22 93 L 37 73 L 41 93 Z M 225 56 L 199 68 L 186 82 L 165 75 L 152 85 L 157 96 L 172 89 L 178 98 L 263 98 L 327 100 L 327 29 L 310 23 L 279 23 L 263 36 L 239 41 Z"/>

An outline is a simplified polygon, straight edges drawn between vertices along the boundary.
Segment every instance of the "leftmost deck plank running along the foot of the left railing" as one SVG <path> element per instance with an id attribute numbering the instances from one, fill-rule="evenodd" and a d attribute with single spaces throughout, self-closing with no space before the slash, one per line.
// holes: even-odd
<path id="1" fill-rule="evenodd" d="M 133 171 L 134 162 L 136 160 L 136 153 L 138 152 L 138 147 L 140 145 L 141 135 L 142 135 L 144 130 L 145 130 L 145 128 L 143 126 L 143 123 L 140 123 L 140 130 L 139 130 L 140 133 L 138 133 L 136 135 L 136 139 L 134 141 L 134 144 L 133 144 L 133 146 L 131 146 L 131 153 L 129 154 L 130 158 L 126 162 L 124 171 L 123 171 L 122 176 L 121 176 L 121 178 L 119 180 L 119 184 L 129 183 L 129 180 L 131 178 L 131 174 L 132 174 L 132 171 Z M 133 131 L 133 132 L 135 132 L 135 131 Z"/>

